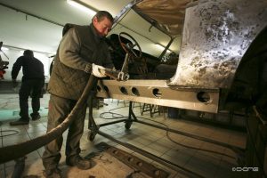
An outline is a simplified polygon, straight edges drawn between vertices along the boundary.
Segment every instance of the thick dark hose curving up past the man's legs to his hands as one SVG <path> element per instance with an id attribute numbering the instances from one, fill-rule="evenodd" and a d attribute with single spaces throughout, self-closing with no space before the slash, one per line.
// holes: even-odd
<path id="1" fill-rule="evenodd" d="M 50 132 L 42 136 L 39 136 L 33 140 L 27 142 L 20 142 L 18 144 L 0 148 L 0 164 L 13 159 L 24 157 L 28 153 L 39 149 L 40 147 L 46 145 L 49 142 L 52 142 L 54 139 L 59 137 L 64 131 L 67 130 L 70 123 L 73 121 L 73 118 L 77 113 L 77 110 L 80 109 L 80 107 L 83 104 L 86 104 L 88 95 L 92 90 L 93 85 L 96 82 L 97 82 L 97 77 L 91 75 L 87 82 L 87 85 L 85 86 L 84 92 L 77 101 L 75 107 L 69 113 L 69 116 L 64 119 L 61 125 L 58 125 L 57 127 L 53 128 L 53 130 L 51 130 Z"/>

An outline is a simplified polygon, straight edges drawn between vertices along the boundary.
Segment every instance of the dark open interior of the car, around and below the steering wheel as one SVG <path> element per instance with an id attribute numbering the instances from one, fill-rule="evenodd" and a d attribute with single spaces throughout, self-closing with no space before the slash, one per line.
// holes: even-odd
<path id="1" fill-rule="evenodd" d="M 131 40 L 124 36 L 111 34 L 107 38 L 111 59 L 117 70 L 121 70 L 125 62 L 126 52 L 122 44 L 133 44 Z M 139 56 L 130 55 L 128 63 L 128 74 L 130 79 L 168 79 L 174 76 L 179 55 L 170 53 L 164 60 L 159 59 L 149 53 L 140 52 L 139 49 L 133 49 Z"/>

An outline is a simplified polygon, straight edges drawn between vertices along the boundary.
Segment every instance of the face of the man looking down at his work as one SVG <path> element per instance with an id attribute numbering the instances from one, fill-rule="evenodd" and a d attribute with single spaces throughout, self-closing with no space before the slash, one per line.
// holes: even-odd
<path id="1" fill-rule="evenodd" d="M 112 22 L 106 17 L 101 21 L 98 21 L 97 18 L 93 18 L 93 26 L 96 28 L 98 35 L 103 37 L 108 35 L 112 27 Z"/>

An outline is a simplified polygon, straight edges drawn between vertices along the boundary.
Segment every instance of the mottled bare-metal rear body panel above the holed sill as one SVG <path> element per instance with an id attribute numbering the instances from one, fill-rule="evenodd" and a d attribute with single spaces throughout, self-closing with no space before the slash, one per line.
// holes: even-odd
<path id="1" fill-rule="evenodd" d="M 186 10 L 180 59 L 168 85 L 229 88 L 239 61 L 266 25 L 266 0 L 200 0 Z"/>

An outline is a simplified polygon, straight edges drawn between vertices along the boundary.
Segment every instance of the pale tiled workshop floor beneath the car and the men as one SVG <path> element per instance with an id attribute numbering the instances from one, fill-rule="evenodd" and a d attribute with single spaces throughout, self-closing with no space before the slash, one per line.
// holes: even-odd
<path id="1" fill-rule="evenodd" d="M 29 125 L 18 125 L 11 126 L 9 125 L 10 121 L 16 120 L 19 118 L 19 98 L 17 94 L 0 94 L 0 147 L 5 147 L 8 145 L 13 145 L 19 142 L 26 142 L 30 139 L 36 138 L 37 136 L 43 135 L 46 132 L 46 122 L 47 122 L 47 106 L 48 106 L 49 94 L 44 94 L 44 98 L 41 99 L 41 119 L 37 121 L 30 121 Z M 107 123 L 111 121 L 108 120 L 108 117 L 112 117 L 110 113 L 103 112 L 114 112 L 113 117 L 127 116 L 128 114 L 128 103 L 117 102 L 117 100 L 105 100 L 104 101 L 108 106 L 103 106 L 100 109 L 93 109 L 93 117 L 97 124 Z M 30 103 L 30 102 L 29 102 Z M 134 113 L 138 117 L 146 117 L 148 119 L 139 118 L 140 120 L 161 125 L 168 126 L 175 130 L 179 130 L 184 133 L 194 134 L 202 136 L 208 139 L 212 139 L 218 142 L 224 142 L 231 145 L 235 145 L 241 148 L 246 146 L 246 134 L 239 133 L 219 127 L 214 127 L 211 125 L 203 125 L 196 122 L 190 122 L 182 119 L 174 119 L 163 117 L 163 114 L 160 116 L 157 114 L 154 117 L 150 117 L 149 112 L 144 113 L 141 116 L 141 109 L 139 108 L 139 103 L 135 103 Z M 29 105 L 30 106 L 30 105 Z M 119 109 L 116 109 L 119 108 Z M 105 117 L 101 118 L 100 117 Z M 162 123 L 162 124 L 158 124 Z M 82 156 L 88 155 L 93 150 L 96 150 L 94 145 L 99 142 L 106 142 L 109 145 L 116 146 L 121 150 L 126 150 L 135 156 L 145 159 L 153 165 L 161 166 L 155 161 L 150 160 L 149 158 L 144 158 L 138 153 L 134 153 L 133 150 L 128 150 L 125 147 L 118 145 L 116 142 L 111 142 L 108 139 L 97 134 L 93 142 L 88 141 L 87 136 L 90 133 L 88 128 L 88 119 L 85 120 L 85 133 L 81 140 Z M 174 164 L 181 166 L 183 169 L 190 170 L 196 174 L 200 174 L 203 177 L 232 177 L 233 172 L 232 168 L 237 166 L 236 159 L 231 158 L 235 157 L 235 153 L 231 150 L 223 148 L 222 146 L 214 145 L 209 142 L 198 141 L 196 139 L 183 136 L 182 134 L 166 133 L 164 130 L 160 130 L 149 125 L 142 125 L 139 123 L 133 123 L 130 130 L 125 130 L 124 123 L 118 123 L 113 125 L 107 125 L 100 128 L 105 134 L 110 134 L 115 137 L 120 142 L 127 142 L 133 144 L 134 146 L 146 150 L 153 155 L 156 155 L 160 158 L 164 158 L 167 161 L 173 162 Z M 66 138 L 67 132 L 64 134 Z M 64 143 L 65 144 L 64 140 Z M 185 146 L 184 146 L 185 145 Z M 196 149 L 191 149 L 194 147 Z M 65 157 L 64 157 L 64 145 L 62 147 L 61 153 L 61 164 L 60 168 L 65 177 L 74 177 L 76 175 L 71 173 L 77 173 L 76 167 L 65 166 Z M 202 151 L 202 150 L 212 150 L 218 151 L 222 154 L 216 154 L 212 152 Z M 18 150 L 20 151 L 20 150 Z M 42 154 L 43 147 L 35 150 L 27 155 L 26 166 L 24 169 L 23 176 L 28 177 L 36 175 L 36 177 L 42 177 L 42 172 L 44 167 L 42 165 Z M 1 153 L 0 153 L 1 154 Z M 226 156 L 229 155 L 229 156 Z M 9 161 L 0 165 L 0 177 L 12 177 L 14 170 L 15 162 Z M 66 171 L 68 169 L 68 172 Z M 82 171 L 81 171 L 82 172 Z M 90 170 L 89 170 L 90 172 Z M 171 171 L 171 177 L 190 177 L 186 176 L 179 171 Z M 88 172 L 86 172 L 88 173 Z M 94 174 L 93 174 L 94 173 Z M 23 177 L 22 176 L 22 177 Z M 92 172 L 91 177 L 107 177 L 107 178 L 120 178 L 117 175 L 109 174 L 107 176 L 95 174 Z M 80 176 L 78 176 L 80 177 Z M 85 177 L 89 177 L 88 175 Z M 124 176 L 125 177 L 125 176 Z"/>

